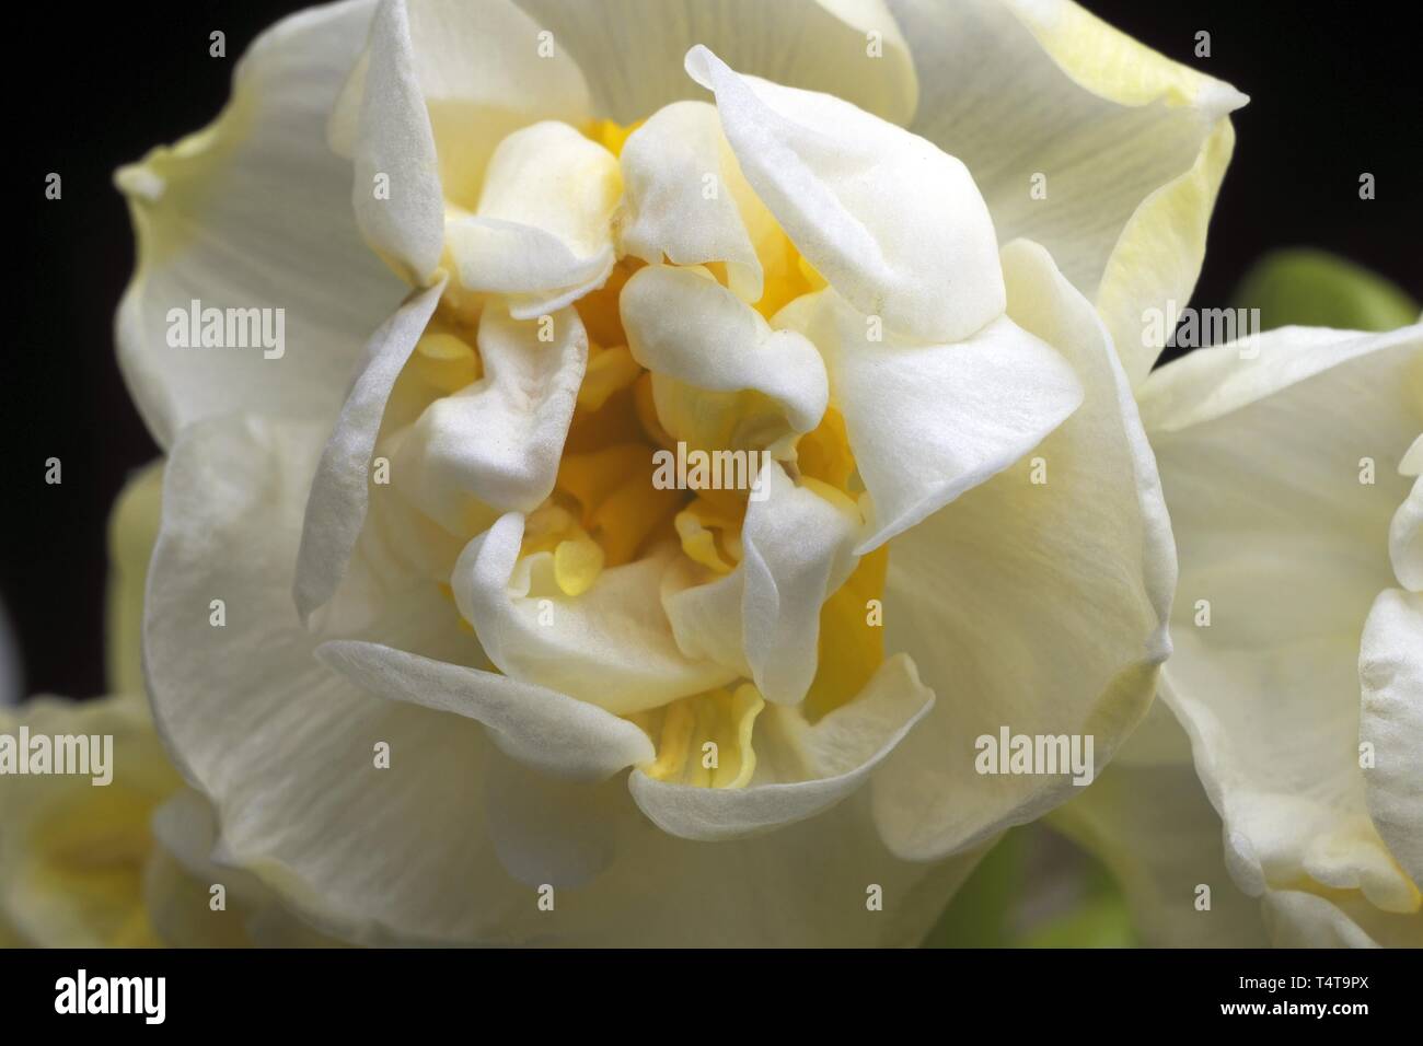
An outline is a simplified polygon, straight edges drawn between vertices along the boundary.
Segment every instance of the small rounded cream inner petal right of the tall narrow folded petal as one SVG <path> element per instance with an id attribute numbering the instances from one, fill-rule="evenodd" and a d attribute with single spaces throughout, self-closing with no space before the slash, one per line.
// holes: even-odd
<path id="1" fill-rule="evenodd" d="M 602 286 L 613 268 L 618 158 L 568 124 L 515 131 L 495 149 L 472 218 L 445 225 L 467 290 L 511 296 L 532 319 Z"/>

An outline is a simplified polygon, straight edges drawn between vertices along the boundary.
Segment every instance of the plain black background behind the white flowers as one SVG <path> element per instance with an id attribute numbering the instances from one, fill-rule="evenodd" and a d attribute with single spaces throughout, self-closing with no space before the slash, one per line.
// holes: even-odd
<path id="1" fill-rule="evenodd" d="M 767 0 L 774 3 L 776 0 Z M 948 0 L 946 0 L 948 1 Z M 115 167 L 216 115 L 248 43 L 302 7 L 275 0 L 7 7 L 7 250 L 0 596 L 26 690 L 104 689 L 105 522 L 157 447 L 118 376 L 112 316 L 134 246 Z M 1225 305 L 1265 250 L 1311 245 L 1423 297 L 1417 4 L 1086 0 L 1123 31 L 1251 95 L 1195 305 Z M 228 57 L 208 56 L 221 28 Z M 1194 57 L 1195 33 L 1211 57 Z M 64 179 L 63 201 L 44 178 Z M 1377 199 L 1359 199 L 1359 174 Z M 64 482 L 44 482 L 44 460 Z"/>

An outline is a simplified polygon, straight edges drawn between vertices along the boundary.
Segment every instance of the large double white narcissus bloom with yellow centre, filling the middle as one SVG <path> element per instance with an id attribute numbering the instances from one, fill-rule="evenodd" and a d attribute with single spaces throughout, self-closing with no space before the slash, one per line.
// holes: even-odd
<path id="1" fill-rule="evenodd" d="M 148 683 L 222 860 L 366 942 L 916 941 L 1073 790 L 973 739 L 1101 764 L 1151 702 L 1138 317 L 1242 101 L 1069 3 L 273 28 L 118 175 Z"/>

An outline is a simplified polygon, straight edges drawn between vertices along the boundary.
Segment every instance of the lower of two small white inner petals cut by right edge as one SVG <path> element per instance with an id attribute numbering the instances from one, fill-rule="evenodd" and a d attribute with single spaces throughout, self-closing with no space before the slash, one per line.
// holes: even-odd
<path id="1" fill-rule="evenodd" d="M 1363 625 L 1359 740 L 1369 815 L 1393 858 L 1423 884 L 1423 595 L 1389 589 Z"/>

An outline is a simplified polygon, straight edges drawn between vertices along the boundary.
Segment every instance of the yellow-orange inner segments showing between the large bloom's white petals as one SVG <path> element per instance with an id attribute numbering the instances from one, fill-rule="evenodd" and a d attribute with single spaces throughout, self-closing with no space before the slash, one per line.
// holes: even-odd
<path id="1" fill-rule="evenodd" d="M 601 121 L 586 135 L 618 157 L 636 127 Z M 750 305 L 766 320 L 791 300 L 825 286 L 778 228 L 764 231 L 756 250 L 764 282 L 761 297 Z M 655 481 L 660 451 L 686 455 L 689 448 L 684 443 L 679 447 L 669 433 L 677 426 L 659 416 L 653 373 L 635 359 L 623 326 L 623 289 L 645 265 L 633 256 L 619 259 L 602 286 L 572 302 L 588 334 L 588 363 L 554 491 L 528 512 L 519 546 L 521 559 L 536 554 L 551 556 L 552 578 L 569 599 L 586 593 L 606 571 L 645 559 L 666 545 L 680 548 L 693 569 L 709 581 L 731 574 L 743 559 L 748 484 Z M 730 285 L 723 262 L 692 268 L 721 287 Z M 447 292 L 416 346 L 403 383 L 413 379 L 438 397 L 480 381 L 485 373 L 475 339 L 481 309 L 480 295 Z M 699 445 L 693 451 L 747 453 L 746 445 L 757 445 L 761 435 L 757 411 L 764 414 L 767 403 L 763 394 L 692 390 L 677 403 L 679 411 L 697 418 Z M 704 403 L 716 407 L 707 408 Z M 704 416 L 713 420 L 706 421 Z M 862 488 L 845 423 L 835 407 L 825 408 L 820 423 L 788 445 L 790 453 L 778 457 L 793 480 L 813 490 L 828 488 L 818 491 L 827 497 L 858 498 Z M 767 458 L 760 451 L 751 457 L 753 468 Z M 488 521 L 478 519 L 465 537 L 487 525 Z M 867 628 L 867 616 L 879 612 L 887 564 L 888 546 L 865 555 L 821 608 L 817 672 L 800 706 L 811 722 L 852 700 L 884 660 L 882 630 Z M 628 655 L 636 659 L 639 650 Z M 649 776 L 682 784 L 741 787 L 756 770 L 753 736 L 764 709 L 754 685 L 733 682 L 628 719 L 655 743 L 656 760 L 643 767 Z"/>

